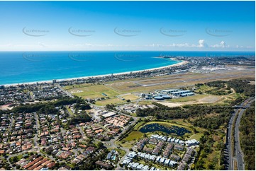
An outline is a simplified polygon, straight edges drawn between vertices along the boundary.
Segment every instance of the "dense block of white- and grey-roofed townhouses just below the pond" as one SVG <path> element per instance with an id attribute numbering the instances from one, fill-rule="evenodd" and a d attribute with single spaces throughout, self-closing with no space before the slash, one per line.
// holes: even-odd
<path id="1" fill-rule="evenodd" d="M 191 144 L 190 142 L 193 142 Z M 185 166 L 189 168 L 191 160 L 194 160 L 196 151 L 194 148 L 199 145 L 199 141 L 189 140 L 188 142 L 167 136 L 159 136 L 152 134 L 150 138 L 143 138 L 137 143 L 138 152 L 130 152 L 126 155 L 122 164 L 129 170 L 160 170 L 157 167 L 165 167 L 165 169 L 180 170 Z M 154 144 L 154 148 L 148 151 L 145 147 L 147 143 Z M 193 147 L 191 147 L 193 146 Z M 146 148 L 146 149 L 145 149 Z M 178 151 L 179 155 L 174 155 Z M 140 163 L 144 161 L 148 165 Z M 154 164 L 152 166 L 152 163 Z M 151 167 L 149 166 L 151 165 Z M 182 169 L 184 170 L 185 167 Z"/>

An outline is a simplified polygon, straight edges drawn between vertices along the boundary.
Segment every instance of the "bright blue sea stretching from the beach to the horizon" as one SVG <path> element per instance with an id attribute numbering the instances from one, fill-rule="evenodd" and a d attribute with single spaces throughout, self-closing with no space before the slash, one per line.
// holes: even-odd
<path id="1" fill-rule="evenodd" d="M 216 57 L 255 52 L 0 52 L 0 85 L 152 69 L 181 61 L 160 55 Z"/>

